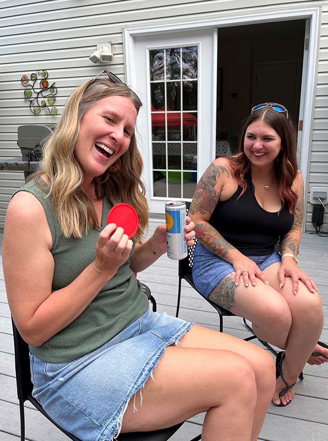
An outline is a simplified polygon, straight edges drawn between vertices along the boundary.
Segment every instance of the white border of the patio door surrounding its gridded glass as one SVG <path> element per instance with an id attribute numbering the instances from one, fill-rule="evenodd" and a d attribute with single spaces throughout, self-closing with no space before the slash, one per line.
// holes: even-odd
<path id="1" fill-rule="evenodd" d="M 169 201 L 170 197 L 155 196 L 153 192 L 151 96 L 148 91 L 150 84 L 149 51 L 158 48 L 182 47 L 186 45 L 198 48 L 197 115 L 201 116 L 197 117 L 198 154 L 196 158 L 197 178 L 199 179 L 215 157 L 217 29 L 171 31 L 169 35 L 153 34 L 151 39 L 148 35 L 137 35 L 135 43 L 134 55 L 136 60 L 134 70 L 138 72 L 139 81 L 138 86 L 134 87 L 134 89 L 145 105 L 140 109 L 136 130 L 139 150 L 144 159 L 144 172 L 141 178 L 146 185 L 146 195 L 150 211 L 158 213 L 163 211 L 163 202 Z M 206 148 L 199 149 L 199 146 L 206 146 Z M 196 186 L 196 180 L 192 185 Z M 191 201 L 191 197 L 185 195 L 183 200 Z"/>

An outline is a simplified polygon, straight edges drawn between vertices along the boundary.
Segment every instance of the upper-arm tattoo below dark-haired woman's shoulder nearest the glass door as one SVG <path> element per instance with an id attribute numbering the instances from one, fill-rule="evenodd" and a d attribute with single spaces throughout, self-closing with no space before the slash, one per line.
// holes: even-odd
<path id="1" fill-rule="evenodd" d="M 225 167 L 214 164 L 208 167 L 197 184 L 189 209 L 190 214 L 195 214 L 197 211 L 201 214 L 213 212 L 220 197 L 220 192 L 215 190 L 217 178 L 224 172 L 229 177 L 229 172 Z"/>

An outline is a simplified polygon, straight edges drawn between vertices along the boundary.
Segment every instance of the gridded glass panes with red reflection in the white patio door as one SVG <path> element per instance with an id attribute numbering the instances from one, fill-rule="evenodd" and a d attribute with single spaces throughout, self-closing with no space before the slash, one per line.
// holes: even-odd
<path id="1" fill-rule="evenodd" d="M 198 46 L 149 51 L 153 196 L 192 198 L 197 183 Z"/>

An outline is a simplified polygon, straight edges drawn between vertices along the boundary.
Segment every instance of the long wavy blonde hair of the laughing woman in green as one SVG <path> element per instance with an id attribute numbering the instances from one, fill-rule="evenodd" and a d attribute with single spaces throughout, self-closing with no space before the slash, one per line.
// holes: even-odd
<path id="1" fill-rule="evenodd" d="M 122 95 L 131 99 L 137 113 L 142 106 L 128 86 L 117 85 L 108 79 L 90 80 L 78 87 L 68 98 L 63 114 L 45 144 L 40 170 L 33 175 L 38 186 L 45 189 L 40 177 L 46 174 L 52 206 L 63 234 L 81 237 L 90 227 L 98 226 L 91 199 L 81 190 L 83 170 L 75 157 L 79 124 L 83 115 L 99 99 Z M 98 198 L 108 197 L 112 205 L 125 202 L 132 205 L 139 217 L 139 228 L 134 236 L 141 242 L 148 226 L 148 205 L 145 186 L 141 182 L 142 158 L 133 134 L 128 150 L 120 156 L 121 168 L 116 173 L 107 170 L 94 178 Z"/>

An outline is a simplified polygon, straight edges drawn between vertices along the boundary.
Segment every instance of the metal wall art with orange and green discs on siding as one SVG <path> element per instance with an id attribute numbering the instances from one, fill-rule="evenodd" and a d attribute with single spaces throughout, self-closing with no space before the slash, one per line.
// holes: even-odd
<path id="1" fill-rule="evenodd" d="M 20 82 L 25 87 L 24 100 L 29 101 L 30 110 L 34 115 L 41 113 L 41 109 L 45 109 L 45 115 L 56 116 L 57 107 L 53 107 L 56 101 L 57 88 L 55 83 L 49 85 L 48 72 L 46 70 L 38 70 L 31 73 L 30 77 L 26 74 L 20 78 Z M 30 81 L 32 84 L 30 84 Z"/>

